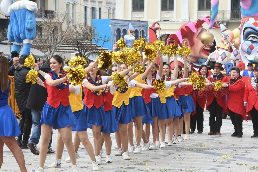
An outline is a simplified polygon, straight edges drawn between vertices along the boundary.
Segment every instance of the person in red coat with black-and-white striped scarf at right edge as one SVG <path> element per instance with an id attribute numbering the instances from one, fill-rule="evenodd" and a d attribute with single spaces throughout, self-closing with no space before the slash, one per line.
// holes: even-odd
<path id="1" fill-rule="evenodd" d="M 253 69 L 254 77 L 248 80 L 245 87 L 244 105 L 246 114 L 251 117 L 253 121 L 254 135 L 251 138 L 258 138 L 258 68 Z"/>

